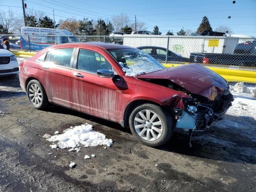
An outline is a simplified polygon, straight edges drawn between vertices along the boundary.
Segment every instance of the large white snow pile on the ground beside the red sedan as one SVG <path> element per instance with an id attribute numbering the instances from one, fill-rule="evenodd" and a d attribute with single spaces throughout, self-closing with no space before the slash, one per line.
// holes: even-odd
<path id="1" fill-rule="evenodd" d="M 59 148 L 76 148 L 77 146 L 97 146 L 112 145 L 112 139 L 106 139 L 106 136 L 100 132 L 92 131 L 92 125 L 83 124 L 80 126 L 70 127 L 63 131 L 63 134 L 51 136 L 47 139 L 50 142 L 58 141 Z"/>

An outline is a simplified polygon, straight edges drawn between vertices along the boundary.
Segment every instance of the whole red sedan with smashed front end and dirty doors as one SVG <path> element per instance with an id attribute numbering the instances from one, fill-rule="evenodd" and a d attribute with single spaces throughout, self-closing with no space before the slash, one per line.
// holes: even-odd
<path id="1" fill-rule="evenodd" d="M 200 64 L 165 68 L 141 50 L 101 42 L 45 48 L 21 62 L 19 78 L 34 108 L 50 102 L 118 122 L 148 146 L 204 130 L 233 101 L 227 82 Z"/>

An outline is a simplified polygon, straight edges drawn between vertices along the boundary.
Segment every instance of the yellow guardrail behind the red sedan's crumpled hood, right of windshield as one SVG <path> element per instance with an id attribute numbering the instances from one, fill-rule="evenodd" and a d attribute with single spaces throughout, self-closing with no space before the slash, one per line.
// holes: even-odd
<path id="1" fill-rule="evenodd" d="M 166 68 L 181 66 L 182 64 L 165 64 Z M 208 69 L 218 73 L 224 79 L 229 82 L 245 82 L 245 83 L 256 83 L 256 71 L 227 69 L 218 67 L 208 67 Z"/>

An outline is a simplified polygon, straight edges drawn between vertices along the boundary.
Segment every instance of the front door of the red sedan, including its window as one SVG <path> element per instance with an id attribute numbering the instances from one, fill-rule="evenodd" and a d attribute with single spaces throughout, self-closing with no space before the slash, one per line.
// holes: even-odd
<path id="1" fill-rule="evenodd" d="M 110 60 L 90 49 L 77 50 L 71 72 L 72 101 L 76 108 L 89 114 L 120 119 L 122 78 L 102 78 L 97 70 L 114 70 Z"/>

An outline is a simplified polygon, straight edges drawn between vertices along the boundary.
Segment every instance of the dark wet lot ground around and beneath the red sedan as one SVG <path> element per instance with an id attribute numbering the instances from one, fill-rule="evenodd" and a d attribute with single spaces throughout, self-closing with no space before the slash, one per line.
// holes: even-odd
<path id="1" fill-rule="evenodd" d="M 18 76 L 0 79 L 0 191 L 255 191 L 256 117 L 238 100 L 212 131 L 174 134 L 160 148 L 137 142 L 120 125 L 59 106 L 33 109 Z M 51 149 L 44 134 L 92 124 L 113 145 Z M 52 153 L 52 154 L 51 154 Z M 95 158 L 84 159 L 88 154 Z M 76 162 L 70 168 L 70 162 Z M 157 165 L 157 166 L 156 166 Z"/>

